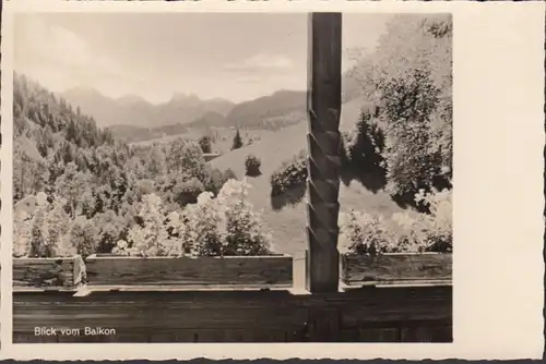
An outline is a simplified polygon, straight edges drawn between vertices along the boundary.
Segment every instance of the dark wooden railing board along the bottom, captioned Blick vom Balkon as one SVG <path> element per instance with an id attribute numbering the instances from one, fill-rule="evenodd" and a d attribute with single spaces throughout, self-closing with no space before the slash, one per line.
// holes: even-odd
<path id="1" fill-rule="evenodd" d="M 37 337 L 35 327 L 103 327 L 115 336 Z M 452 290 L 14 293 L 22 342 L 451 342 Z"/>

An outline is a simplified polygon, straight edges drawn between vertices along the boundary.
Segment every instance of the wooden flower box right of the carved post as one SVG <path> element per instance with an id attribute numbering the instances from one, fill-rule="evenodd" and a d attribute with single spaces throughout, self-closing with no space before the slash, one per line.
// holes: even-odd
<path id="1" fill-rule="evenodd" d="M 347 286 L 395 282 L 450 282 L 453 255 L 423 254 L 345 254 L 341 259 L 341 279 Z"/>

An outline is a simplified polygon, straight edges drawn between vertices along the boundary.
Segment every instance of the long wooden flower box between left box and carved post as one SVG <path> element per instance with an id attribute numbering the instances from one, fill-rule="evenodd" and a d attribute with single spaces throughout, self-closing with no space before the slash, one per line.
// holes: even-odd
<path id="1" fill-rule="evenodd" d="M 90 286 L 293 286 L 293 258 L 91 256 L 85 260 Z"/>

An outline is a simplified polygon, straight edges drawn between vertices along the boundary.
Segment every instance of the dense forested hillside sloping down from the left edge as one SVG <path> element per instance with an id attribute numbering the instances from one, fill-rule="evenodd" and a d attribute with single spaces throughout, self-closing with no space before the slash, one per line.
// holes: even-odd
<path id="1" fill-rule="evenodd" d="M 233 177 L 209 167 L 198 143 L 135 148 L 117 142 L 93 118 L 19 74 L 13 111 L 17 255 L 48 255 L 28 248 L 44 241 L 59 244 L 59 236 L 76 245 L 93 241 L 109 252 L 141 222 L 144 195 L 157 194 L 166 213 L 179 210 L 203 191 L 217 193 Z M 52 208 L 38 219 L 35 211 L 44 202 L 37 196 L 44 194 Z"/>

